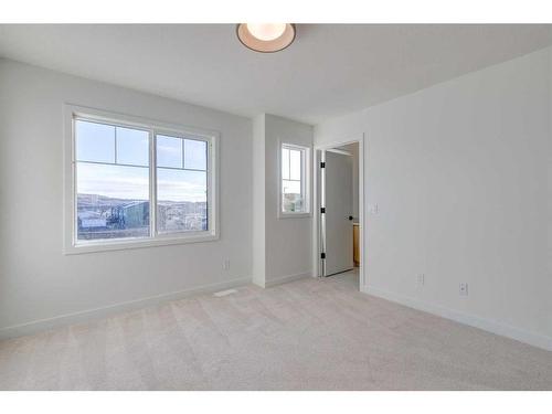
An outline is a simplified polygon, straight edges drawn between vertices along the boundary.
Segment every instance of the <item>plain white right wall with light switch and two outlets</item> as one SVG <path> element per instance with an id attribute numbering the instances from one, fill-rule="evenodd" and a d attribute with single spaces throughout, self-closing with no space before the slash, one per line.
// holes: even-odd
<path id="1" fill-rule="evenodd" d="M 551 54 L 315 128 L 365 132 L 364 290 L 552 349 Z"/>

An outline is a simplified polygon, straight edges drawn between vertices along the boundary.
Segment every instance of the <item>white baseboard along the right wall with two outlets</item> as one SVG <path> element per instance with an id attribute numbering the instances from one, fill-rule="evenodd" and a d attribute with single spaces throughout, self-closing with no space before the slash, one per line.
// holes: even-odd
<path id="1" fill-rule="evenodd" d="M 552 338 L 543 335 L 528 332 L 523 329 L 512 327 L 510 325 L 480 318 L 475 315 L 464 314 L 439 305 L 427 304 L 412 297 L 402 296 L 393 291 L 380 289 L 373 286 L 362 286 L 360 290 L 365 294 L 378 296 L 380 298 L 391 300 L 417 310 L 437 315 L 442 318 L 452 319 L 456 322 L 469 325 L 471 327 L 514 339 L 517 341 L 524 342 L 537 348 L 542 348 L 546 351 L 552 351 Z"/>

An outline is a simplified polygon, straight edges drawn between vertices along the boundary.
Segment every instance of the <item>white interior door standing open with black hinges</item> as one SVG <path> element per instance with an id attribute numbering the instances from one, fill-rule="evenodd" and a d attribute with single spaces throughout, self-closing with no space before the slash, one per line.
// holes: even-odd
<path id="1" fill-rule="evenodd" d="M 321 213 L 325 253 L 323 276 L 353 268 L 352 257 L 352 159 L 325 151 Z"/>

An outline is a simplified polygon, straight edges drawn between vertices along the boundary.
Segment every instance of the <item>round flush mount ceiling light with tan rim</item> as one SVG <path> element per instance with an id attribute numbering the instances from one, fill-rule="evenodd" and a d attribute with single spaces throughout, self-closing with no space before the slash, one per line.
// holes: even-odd
<path id="1" fill-rule="evenodd" d="M 295 40 L 291 23 L 242 23 L 236 28 L 237 39 L 255 52 L 272 53 L 289 46 Z"/>

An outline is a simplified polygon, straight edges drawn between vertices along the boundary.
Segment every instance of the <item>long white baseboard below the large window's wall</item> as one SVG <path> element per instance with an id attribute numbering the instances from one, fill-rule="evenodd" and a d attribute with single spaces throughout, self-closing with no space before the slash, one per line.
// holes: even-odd
<path id="1" fill-rule="evenodd" d="M 129 300 L 120 304 L 109 305 L 95 309 L 87 309 L 74 314 L 60 315 L 53 318 L 34 320 L 26 323 L 14 325 L 11 327 L 0 328 L 0 340 L 21 337 L 25 335 L 36 333 L 40 331 L 49 330 L 52 328 L 57 328 L 62 326 L 81 323 L 88 320 L 99 319 L 103 317 L 120 314 L 124 311 L 142 309 L 150 306 L 159 305 L 162 302 L 178 300 L 193 295 L 211 294 L 219 290 L 230 289 L 234 287 L 240 287 L 251 284 L 250 277 L 242 277 L 237 279 L 232 279 L 227 282 L 215 283 L 211 285 L 204 285 L 194 287 L 191 289 L 184 289 L 179 291 L 171 291 L 168 294 L 161 294 L 156 296 L 150 296 L 147 298 Z"/>

